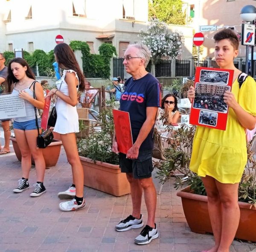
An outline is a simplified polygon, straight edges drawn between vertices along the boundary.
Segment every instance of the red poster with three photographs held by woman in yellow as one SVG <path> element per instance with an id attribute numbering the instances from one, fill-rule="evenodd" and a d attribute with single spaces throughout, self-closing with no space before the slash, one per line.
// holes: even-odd
<path id="1" fill-rule="evenodd" d="M 196 68 L 190 124 L 226 130 L 228 106 L 223 96 L 231 91 L 233 75 L 233 70 Z"/>

